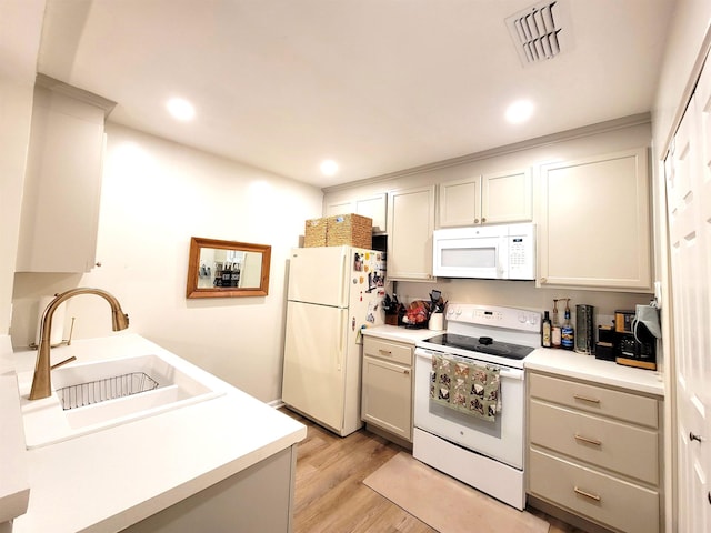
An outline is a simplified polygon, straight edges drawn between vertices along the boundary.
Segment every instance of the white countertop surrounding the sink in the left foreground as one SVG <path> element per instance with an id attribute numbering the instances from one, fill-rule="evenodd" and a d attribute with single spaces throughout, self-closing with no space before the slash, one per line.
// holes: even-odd
<path id="1" fill-rule="evenodd" d="M 136 334 L 74 341 L 52 349 L 52 362 L 151 353 L 224 394 L 24 451 L 29 509 L 13 533 L 119 531 L 306 438 L 303 424 Z M 36 356 L 16 353 L 18 373 Z"/>

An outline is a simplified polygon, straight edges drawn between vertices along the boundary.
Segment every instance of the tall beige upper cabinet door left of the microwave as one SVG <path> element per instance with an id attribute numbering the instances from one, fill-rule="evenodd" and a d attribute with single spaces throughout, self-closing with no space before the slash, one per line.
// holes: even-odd
<path id="1" fill-rule="evenodd" d="M 432 279 L 434 185 L 388 193 L 388 279 Z"/>

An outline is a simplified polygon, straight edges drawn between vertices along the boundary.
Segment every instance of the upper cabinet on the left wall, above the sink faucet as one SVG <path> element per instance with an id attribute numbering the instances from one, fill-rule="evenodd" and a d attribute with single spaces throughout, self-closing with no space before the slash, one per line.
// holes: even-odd
<path id="1" fill-rule="evenodd" d="M 88 272 L 96 264 L 109 102 L 38 76 L 18 272 Z"/>

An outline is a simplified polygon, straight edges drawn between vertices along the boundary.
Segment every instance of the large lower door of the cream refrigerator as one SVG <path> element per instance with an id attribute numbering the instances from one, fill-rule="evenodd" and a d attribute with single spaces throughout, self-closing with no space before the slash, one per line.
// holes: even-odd
<path id="1" fill-rule="evenodd" d="M 281 398 L 333 430 L 343 428 L 348 310 L 287 304 Z"/>

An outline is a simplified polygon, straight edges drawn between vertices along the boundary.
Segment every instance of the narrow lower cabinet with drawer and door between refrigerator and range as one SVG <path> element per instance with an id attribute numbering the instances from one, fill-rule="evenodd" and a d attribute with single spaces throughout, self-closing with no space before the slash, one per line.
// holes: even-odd
<path id="1" fill-rule="evenodd" d="M 413 345 L 365 336 L 361 418 L 412 442 Z"/>

